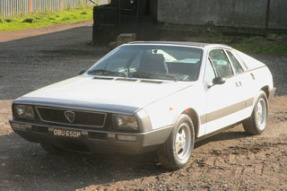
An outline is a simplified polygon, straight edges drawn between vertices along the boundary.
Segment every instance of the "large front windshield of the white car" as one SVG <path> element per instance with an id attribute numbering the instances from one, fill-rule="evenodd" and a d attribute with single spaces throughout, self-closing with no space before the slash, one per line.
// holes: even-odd
<path id="1" fill-rule="evenodd" d="M 88 70 L 90 75 L 195 81 L 201 66 L 199 48 L 169 45 L 124 45 Z"/>

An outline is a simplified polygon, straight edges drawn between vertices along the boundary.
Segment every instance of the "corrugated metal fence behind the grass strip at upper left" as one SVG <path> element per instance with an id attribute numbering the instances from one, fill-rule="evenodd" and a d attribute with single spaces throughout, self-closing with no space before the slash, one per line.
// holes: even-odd
<path id="1" fill-rule="evenodd" d="M 94 2 L 97 4 L 107 4 L 109 0 L 95 0 Z M 94 4 L 89 0 L 0 0 L 0 18 L 92 5 Z"/>

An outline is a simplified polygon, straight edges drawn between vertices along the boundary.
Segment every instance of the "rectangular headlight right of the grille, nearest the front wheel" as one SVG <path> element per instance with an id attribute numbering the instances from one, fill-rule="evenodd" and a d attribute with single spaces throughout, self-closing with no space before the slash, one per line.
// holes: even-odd
<path id="1" fill-rule="evenodd" d="M 139 130 L 139 125 L 135 116 L 113 115 L 113 125 L 116 129 L 119 130 Z"/>

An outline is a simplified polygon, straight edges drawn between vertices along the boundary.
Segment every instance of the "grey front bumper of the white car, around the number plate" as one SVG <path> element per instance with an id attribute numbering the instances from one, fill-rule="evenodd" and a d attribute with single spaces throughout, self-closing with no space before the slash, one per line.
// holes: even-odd
<path id="1" fill-rule="evenodd" d="M 169 126 L 144 133 L 124 133 L 49 126 L 15 120 L 9 122 L 17 134 L 30 142 L 48 143 L 65 150 L 84 153 L 138 154 L 152 151 L 168 139 L 173 129 L 172 126 Z M 54 129 L 80 131 L 81 136 L 79 138 L 55 136 Z M 132 139 L 123 141 L 123 137 L 131 137 Z"/>

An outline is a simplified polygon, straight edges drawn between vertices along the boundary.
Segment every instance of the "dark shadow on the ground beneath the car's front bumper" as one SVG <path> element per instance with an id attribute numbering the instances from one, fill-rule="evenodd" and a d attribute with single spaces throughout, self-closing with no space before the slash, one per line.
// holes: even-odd
<path id="1" fill-rule="evenodd" d="M 75 190 L 168 172 L 156 153 L 52 155 L 15 133 L 0 136 L 0 145 L 0 190 Z"/>

